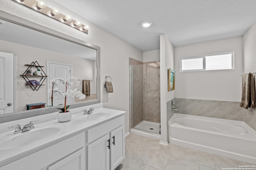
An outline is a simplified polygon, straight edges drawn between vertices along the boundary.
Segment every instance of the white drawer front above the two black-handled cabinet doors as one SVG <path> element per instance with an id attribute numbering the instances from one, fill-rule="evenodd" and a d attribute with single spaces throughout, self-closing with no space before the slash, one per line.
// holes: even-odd
<path id="1" fill-rule="evenodd" d="M 103 135 L 109 133 L 113 129 L 116 129 L 117 127 L 123 124 L 124 124 L 124 115 L 117 117 L 115 119 L 112 119 L 101 125 L 98 125 L 92 129 L 89 129 L 87 131 L 87 142 L 91 143 L 92 141 L 102 137 Z"/>

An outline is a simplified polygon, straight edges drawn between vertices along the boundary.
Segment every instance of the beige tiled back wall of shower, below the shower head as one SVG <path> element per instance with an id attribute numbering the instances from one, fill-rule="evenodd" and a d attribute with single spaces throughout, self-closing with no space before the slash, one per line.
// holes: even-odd
<path id="1" fill-rule="evenodd" d="M 143 63 L 143 119 L 160 123 L 160 69 L 157 63 Z"/>

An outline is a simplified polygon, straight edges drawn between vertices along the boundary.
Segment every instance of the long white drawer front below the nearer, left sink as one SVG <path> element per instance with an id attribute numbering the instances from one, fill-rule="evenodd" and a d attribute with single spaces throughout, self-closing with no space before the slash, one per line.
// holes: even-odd
<path id="1" fill-rule="evenodd" d="M 50 147 L 39 150 L 33 154 L 25 156 L 19 160 L 16 160 L 6 166 L 0 168 L 0 170 L 38 170 L 42 169 L 57 160 L 71 154 L 72 152 L 84 147 L 85 133 L 80 133 L 69 139 L 56 143 Z"/>

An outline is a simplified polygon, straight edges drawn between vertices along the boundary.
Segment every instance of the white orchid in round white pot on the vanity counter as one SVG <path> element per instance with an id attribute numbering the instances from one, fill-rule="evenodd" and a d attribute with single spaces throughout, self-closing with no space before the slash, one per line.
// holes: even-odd
<path id="1" fill-rule="evenodd" d="M 67 80 L 63 80 L 61 78 L 54 78 L 50 80 L 50 89 L 48 90 L 48 93 L 52 94 L 52 100 L 53 100 L 53 94 L 57 94 L 58 96 L 65 97 L 65 103 L 63 108 L 58 108 L 61 111 L 57 114 L 57 119 L 59 122 L 66 122 L 70 121 L 72 114 L 68 110 L 69 106 L 66 106 L 67 96 L 76 97 L 78 99 L 84 99 L 85 95 L 82 94 L 80 91 L 77 91 L 77 88 L 74 90 L 71 89 L 71 84 L 74 84 L 76 86 L 79 85 L 81 81 L 78 80 L 78 78 L 70 77 L 67 78 Z M 64 86 L 65 92 L 62 92 L 60 90 L 60 86 Z"/>

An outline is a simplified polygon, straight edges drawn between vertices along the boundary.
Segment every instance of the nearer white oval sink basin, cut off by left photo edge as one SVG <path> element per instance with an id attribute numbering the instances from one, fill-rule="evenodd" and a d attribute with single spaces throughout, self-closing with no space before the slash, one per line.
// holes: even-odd
<path id="1" fill-rule="evenodd" d="M 30 131 L 2 135 L 0 136 L 0 150 L 10 150 L 31 145 L 58 134 L 64 127 L 65 125 L 35 125 L 35 129 Z"/>

